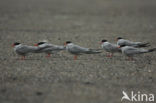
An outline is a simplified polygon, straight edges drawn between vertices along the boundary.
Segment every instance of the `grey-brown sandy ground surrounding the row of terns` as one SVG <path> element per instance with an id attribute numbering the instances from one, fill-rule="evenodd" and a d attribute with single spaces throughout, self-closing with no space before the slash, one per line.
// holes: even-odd
<path id="1" fill-rule="evenodd" d="M 41 40 L 100 48 L 118 36 L 156 46 L 155 0 L 1 0 L 0 103 L 121 103 L 122 91 L 156 94 L 156 53 L 127 61 L 66 51 L 18 60 L 11 44 Z M 123 103 L 128 103 L 125 101 Z M 135 103 L 135 102 L 133 102 Z"/>

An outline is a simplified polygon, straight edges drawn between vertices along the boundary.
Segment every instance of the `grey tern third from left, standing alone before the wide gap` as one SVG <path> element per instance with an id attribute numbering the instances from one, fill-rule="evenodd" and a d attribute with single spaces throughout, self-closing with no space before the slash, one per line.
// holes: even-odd
<path id="1" fill-rule="evenodd" d="M 75 45 L 71 41 L 66 41 L 65 42 L 65 46 L 66 46 L 66 50 L 69 53 L 75 55 L 74 56 L 74 60 L 76 60 L 77 56 L 81 55 L 81 54 L 97 54 L 97 53 L 101 53 L 100 51 L 97 51 L 95 49 L 84 48 L 84 47 Z"/>

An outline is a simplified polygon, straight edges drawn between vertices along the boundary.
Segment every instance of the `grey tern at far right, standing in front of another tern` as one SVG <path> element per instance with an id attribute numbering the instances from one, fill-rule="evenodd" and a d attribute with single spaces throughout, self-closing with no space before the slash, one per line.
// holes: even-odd
<path id="1" fill-rule="evenodd" d="M 156 48 L 143 49 L 143 48 L 135 48 L 132 46 L 126 46 L 126 45 L 121 45 L 119 48 L 121 48 L 121 51 L 124 55 L 129 57 L 129 60 L 133 60 L 134 55 L 156 51 Z"/>

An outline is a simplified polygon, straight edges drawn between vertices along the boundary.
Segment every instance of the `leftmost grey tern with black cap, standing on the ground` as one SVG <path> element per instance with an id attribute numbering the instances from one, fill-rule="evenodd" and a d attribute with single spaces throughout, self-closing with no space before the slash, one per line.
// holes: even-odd
<path id="1" fill-rule="evenodd" d="M 28 45 L 23 45 L 21 43 L 15 42 L 14 44 L 12 44 L 12 47 L 14 47 L 14 51 L 18 54 L 22 56 L 22 60 L 25 59 L 25 56 L 28 53 L 35 53 L 39 48 L 35 47 L 35 46 L 28 46 Z"/>

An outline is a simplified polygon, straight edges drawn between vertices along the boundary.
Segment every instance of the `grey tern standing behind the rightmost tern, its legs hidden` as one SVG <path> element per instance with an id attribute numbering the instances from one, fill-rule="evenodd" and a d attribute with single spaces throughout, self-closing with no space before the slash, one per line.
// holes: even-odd
<path id="1" fill-rule="evenodd" d="M 133 46 L 133 47 L 148 47 L 150 46 L 149 43 L 142 43 L 142 42 L 133 42 L 129 40 L 125 40 L 122 37 L 117 38 L 117 45 L 126 45 L 126 46 Z"/>

